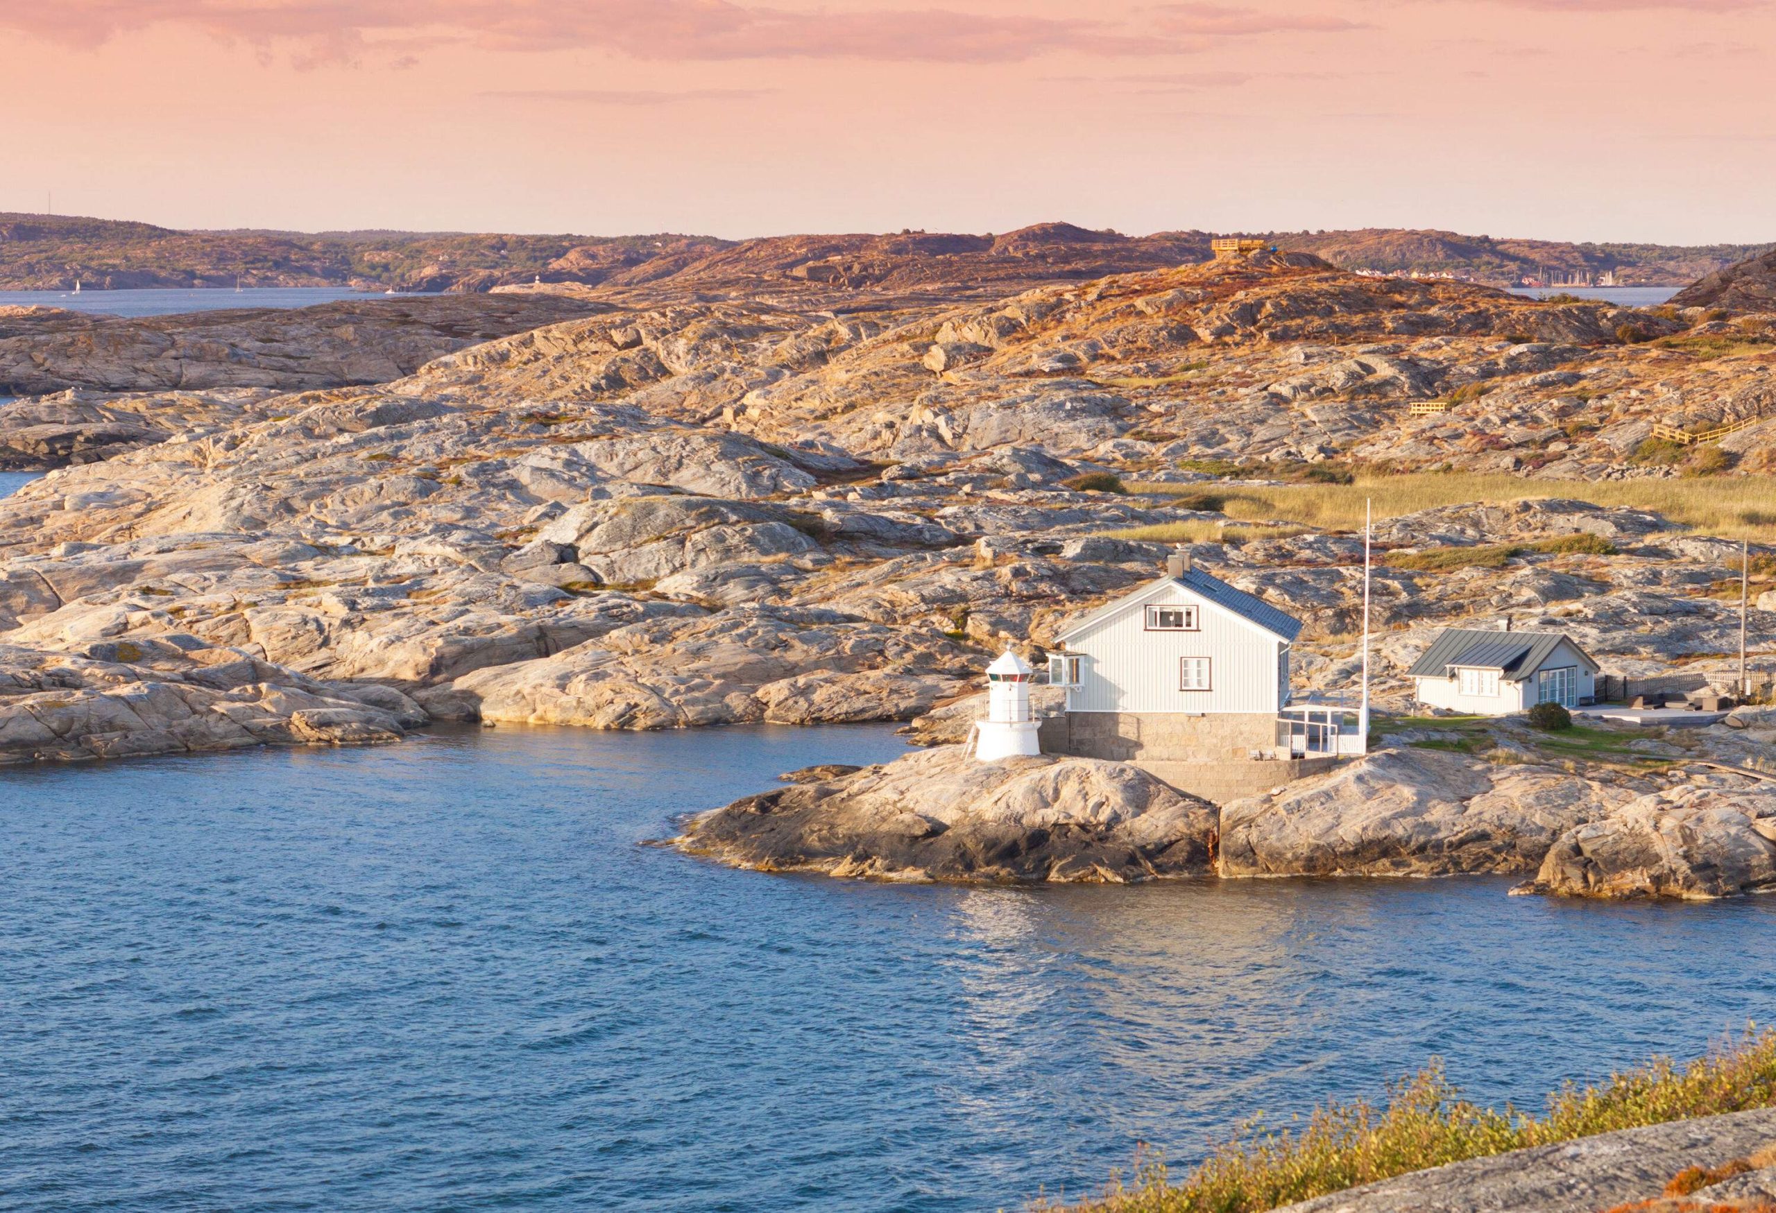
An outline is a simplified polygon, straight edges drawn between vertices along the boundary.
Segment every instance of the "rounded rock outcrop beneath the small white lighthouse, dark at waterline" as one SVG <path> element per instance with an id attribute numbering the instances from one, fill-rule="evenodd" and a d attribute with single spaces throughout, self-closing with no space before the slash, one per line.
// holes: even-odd
<path id="1" fill-rule="evenodd" d="M 675 842 L 760 870 L 1122 883 L 1204 872 L 1213 824 L 1208 803 L 1119 762 L 984 764 L 945 746 L 749 796 Z"/>

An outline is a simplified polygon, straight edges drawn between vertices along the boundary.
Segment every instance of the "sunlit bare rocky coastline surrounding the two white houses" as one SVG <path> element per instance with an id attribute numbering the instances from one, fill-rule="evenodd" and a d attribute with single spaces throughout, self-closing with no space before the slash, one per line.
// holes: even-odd
<path id="1" fill-rule="evenodd" d="M 1332 691 L 1355 670 L 1360 543 L 1252 517 L 1261 494 L 1387 467 L 1680 499 L 1776 467 L 1769 313 L 1536 302 L 1300 252 L 998 297 L 884 265 L 845 307 L 829 282 L 755 275 L 744 297 L 0 316 L 0 382 L 23 392 L 0 407 L 0 465 L 59 467 L 0 501 L 0 764 L 440 719 L 892 719 L 941 746 L 991 654 L 1046 645 L 1176 542 L 1307 620 L 1296 689 Z M 1446 407 L 1412 412 L 1428 401 Z M 1739 428 L 1659 446 L 1673 423 Z M 1563 494 L 1410 510 L 1376 540 L 1394 725 L 1362 764 L 1209 812 L 1133 769 L 998 785 L 934 749 L 773 792 L 696 845 L 895 879 L 1767 884 L 1762 717 L 1577 751 L 1405 721 L 1430 634 L 1506 614 L 1645 686 L 1730 682 L 1737 543 Z M 1758 565 L 1755 636 L 1771 607 Z"/>

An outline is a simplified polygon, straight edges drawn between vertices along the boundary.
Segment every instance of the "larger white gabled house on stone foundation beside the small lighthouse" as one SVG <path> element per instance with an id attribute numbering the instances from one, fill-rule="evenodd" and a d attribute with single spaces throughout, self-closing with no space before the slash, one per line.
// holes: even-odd
<path id="1" fill-rule="evenodd" d="M 1163 577 L 1060 632 L 1050 682 L 1067 689 L 1067 737 L 1055 748 L 1158 760 L 1272 751 L 1300 630 L 1300 620 L 1177 552 Z"/>

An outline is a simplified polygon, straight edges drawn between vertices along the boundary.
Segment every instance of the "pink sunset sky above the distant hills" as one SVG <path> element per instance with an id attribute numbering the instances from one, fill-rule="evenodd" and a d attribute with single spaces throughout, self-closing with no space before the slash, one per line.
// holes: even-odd
<path id="1" fill-rule="evenodd" d="M 0 0 L 0 210 L 1776 240 L 1776 0 Z"/>

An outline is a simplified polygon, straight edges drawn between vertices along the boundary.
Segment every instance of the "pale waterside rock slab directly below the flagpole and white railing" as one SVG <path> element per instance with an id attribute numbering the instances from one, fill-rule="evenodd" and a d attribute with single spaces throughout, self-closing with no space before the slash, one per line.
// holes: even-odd
<path id="1" fill-rule="evenodd" d="M 1549 767 L 1384 749 L 1222 808 L 1222 876 L 1533 872 L 1629 794 Z"/>

